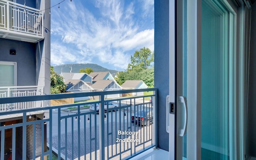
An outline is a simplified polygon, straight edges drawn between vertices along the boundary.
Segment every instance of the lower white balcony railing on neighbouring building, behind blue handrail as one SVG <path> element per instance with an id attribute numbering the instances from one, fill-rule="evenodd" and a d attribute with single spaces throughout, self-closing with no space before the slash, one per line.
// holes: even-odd
<path id="1" fill-rule="evenodd" d="M 0 87 L 0 98 L 37 96 L 44 94 L 43 86 L 13 86 Z M 12 104 L 0 104 L 0 112 L 42 107 L 43 101 L 19 102 Z"/>

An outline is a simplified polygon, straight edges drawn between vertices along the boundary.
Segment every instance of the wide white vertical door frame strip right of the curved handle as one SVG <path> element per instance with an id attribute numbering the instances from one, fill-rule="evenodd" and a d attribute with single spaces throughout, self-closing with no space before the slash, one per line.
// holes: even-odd
<path id="1" fill-rule="evenodd" d="M 201 10 L 202 0 L 187 1 L 188 160 L 201 160 Z"/>

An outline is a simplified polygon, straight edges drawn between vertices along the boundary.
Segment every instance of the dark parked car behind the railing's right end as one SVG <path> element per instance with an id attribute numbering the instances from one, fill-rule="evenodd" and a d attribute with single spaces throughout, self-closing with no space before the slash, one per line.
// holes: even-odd
<path id="1" fill-rule="evenodd" d="M 149 126 L 153 123 L 152 109 L 138 110 L 135 114 L 132 114 L 131 122 L 133 124 L 140 124 L 141 126 Z"/>

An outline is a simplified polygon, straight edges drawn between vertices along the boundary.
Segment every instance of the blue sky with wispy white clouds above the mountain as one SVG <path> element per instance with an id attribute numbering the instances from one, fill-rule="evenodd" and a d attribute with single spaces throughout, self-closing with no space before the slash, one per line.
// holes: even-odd
<path id="1" fill-rule="evenodd" d="M 51 6 L 61 1 L 51 0 Z M 124 70 L 143 47 L 154 50 L 154 0 L 65 0 L 51 8 L 53 66 L 95 63 Z"/>

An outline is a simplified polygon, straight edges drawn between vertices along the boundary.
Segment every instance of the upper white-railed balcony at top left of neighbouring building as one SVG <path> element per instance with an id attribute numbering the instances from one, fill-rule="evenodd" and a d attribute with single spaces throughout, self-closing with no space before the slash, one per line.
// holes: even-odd
<path id="1" fill-rule="evenodd" d="M 0 0 L 0 37 L 25 42 L 44 39 L 44 12 Z"/>

